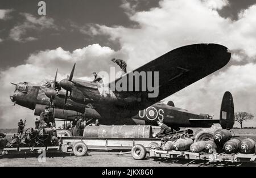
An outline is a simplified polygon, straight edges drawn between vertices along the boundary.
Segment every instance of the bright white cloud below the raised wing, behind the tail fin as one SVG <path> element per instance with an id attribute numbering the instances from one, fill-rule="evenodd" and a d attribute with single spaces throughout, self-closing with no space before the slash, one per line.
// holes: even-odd
<path id="1" fill-rule="evenodd" d="M 225 72 L 199 80 L 166 99 L 173 100 L 177 107 L 195 113 L 208 113 L 220 118 L 222 96 L 230 91 L 234 99 L 235 112 L 246 111 L 255 115 L 256 64 L 230 66 Z M 238 126 L 238 125 L 237 125 Z M 255 120 L 247 126 L 256 126 Z"/>

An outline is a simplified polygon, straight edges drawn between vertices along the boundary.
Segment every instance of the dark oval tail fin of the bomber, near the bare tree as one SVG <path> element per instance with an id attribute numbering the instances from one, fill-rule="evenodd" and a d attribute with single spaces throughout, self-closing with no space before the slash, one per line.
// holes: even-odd
<path id="1" fill-rule="evenodd" d="M 234 125 L 234 102 L 229 91 L 226 91 L 222 98 L 220 125 L 223 129 L 232 129 Z"/>

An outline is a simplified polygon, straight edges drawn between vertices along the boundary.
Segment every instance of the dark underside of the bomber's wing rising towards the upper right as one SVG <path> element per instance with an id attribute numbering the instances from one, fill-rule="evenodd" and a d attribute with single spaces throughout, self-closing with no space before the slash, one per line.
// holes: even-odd
<path id="1" fill-rule="evenodd" d="M 148 97 L 148 94 L 152 94 L 153 92 L 150 92 L 149 90 L 142 91 L 141 80 L 139 81 L 139 92 L 135 91 L 134 84 L 133 91 L 130 91 L 130 89 L 128 89 L 130 83 L 128 82 L 127 90 L 129 91 L 118 92 L 114 90 L 114 92 L 121 95 L 123 98 L 131 98 L 132 96 L 134 96 L 134 98 L 138 98 L 138 96 L 141 97 L 140 109 L 143 109 L 167 98 L 197 80 L 212 74 L 214 71 L 221 69 L 229 62 L 230 56 L 231 54 L 228 52 L 228 48 L 218 44 L 194 44 L 183 46 L 171 50 L 163 56 L 160 56 L 133 71 L 138 71 L 138 73 L 144 71 L 146 72 L 147 77 L 149 76 L 148 72 L 150 71 L 152 71 L 152 73 L 159 72 L 159 85 L 155 86 L 159 90 L 158 96 L 154 98 Z M 130 72 L 124 76 L 129 78 L 130 76 L 132 77 L 132 75 L 133 73 Z M 114 89 L 116 89 L 115 84 L 117 82 L 125 83 L 124 76 L 109 83 L 109 87 L 112 88 L 112 91 L 113 86 L 115 87 Z"/>

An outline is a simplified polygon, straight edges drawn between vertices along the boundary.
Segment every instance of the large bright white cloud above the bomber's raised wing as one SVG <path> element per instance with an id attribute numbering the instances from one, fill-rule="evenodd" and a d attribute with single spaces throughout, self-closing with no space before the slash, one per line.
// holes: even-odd
<path id="1" fill-rule="evenodd" d="M 139 24 L 137 28 L 98 24 L 95 27 L 109 35 L 110 40 L 119 40 L 122 50 L 129 54 L 127 60 L 132 69 L 171 49 L 193 43 L 222 44 L 231 50 L 242 50 L 255 60 L 256 5 L 241 11 L 236 21 L 218 14 L 217 10 L 228 5 L 224 0 L 164 0 L 159 7 L 129 16 Z"/>

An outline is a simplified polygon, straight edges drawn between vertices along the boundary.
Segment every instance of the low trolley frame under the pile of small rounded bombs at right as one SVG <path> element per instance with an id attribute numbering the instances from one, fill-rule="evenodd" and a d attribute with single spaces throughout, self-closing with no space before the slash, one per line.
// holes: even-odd
<path id="1" fill-rule="evenodd" d="M 255 154 L 225 154 L 225 152 L 212 154 L 204 152 L 190 152 L 188 151 L 163 151 L 163 150 L 150 150 L 150 158 L 176 158 L 176 159 L 189 159 L 189 160 L 207 160 L 210 163 L 218 162 L 240 162 L 240 163 L 256 163 Z"/>

